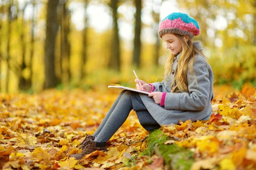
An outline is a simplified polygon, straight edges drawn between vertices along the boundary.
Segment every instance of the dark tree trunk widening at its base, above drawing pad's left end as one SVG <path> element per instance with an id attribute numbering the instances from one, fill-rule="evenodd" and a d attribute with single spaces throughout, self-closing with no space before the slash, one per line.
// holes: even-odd
<path id="1" fill-rule="evenodd" d="M 119 45 L 119 34 L 117 24 L 117 2 L 118 0 L 111 0 L 112 18 L 113 18 L 113 42 L 110 61 L 108 62 L 108 68 L 116 71 L 120 71 L 120 45 Z"/>

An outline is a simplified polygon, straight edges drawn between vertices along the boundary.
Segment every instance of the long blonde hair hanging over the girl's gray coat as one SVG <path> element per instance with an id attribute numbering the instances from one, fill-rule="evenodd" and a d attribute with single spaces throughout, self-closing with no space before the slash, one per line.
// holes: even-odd
<path id="1" fill-rule="evenodd" d="M 175 34 L 175 36 L 177 36 L 181 42 L 182 52 L 176 68 L 177 71 L 175 71 L 175 77 L 171 84 L 171 89 L 172 89 L 171 93 L 180 93 L 180 92 L 189 93 L 188 87 L 187 87 L 188 85 L 187 70 L 190 69 L 190 73 L 192 73 L 195 77 L 195 74 L 193 71 L 195 54 L 201 54 L 204 58 L 206 59 L 208 58 L 203 54 L 202 51 L 198 50 L 198 48 L 195 47 L 195 45 L 193 44 L 193 41 L 190 38 L 188 41 L 186 41 L 185 36 L 181 36 L 179 34 Z M 174 58 L 175 58 L 175 55 L 171 53 L 166 61 L 166 64 L 164 67 L 165 72 L 164 72 L 164 75 L 161 76 L 162 78 L 166 78 L 167 80 L 169 80 L 168 77 L 172 72 L 172 62 L 174 61 Z M 195 81 L 197 84 L 196 77 L 195 77 Z"/>

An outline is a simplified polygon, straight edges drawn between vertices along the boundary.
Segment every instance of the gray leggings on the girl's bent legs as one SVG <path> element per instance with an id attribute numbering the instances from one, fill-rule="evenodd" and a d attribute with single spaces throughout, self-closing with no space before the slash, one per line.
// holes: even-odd
<path id="1" fill-rule="evenodd" d="M 145 108 L 140 96 L 134 91 L 122 91 L 106 114 L 98 129 L 93 133 L 95 142 L 108 142 L 114 133 L 122 126 L 134 109 L 140 124 L 148 131 L 159 128 L 160 125 L 154 120 Z"/>

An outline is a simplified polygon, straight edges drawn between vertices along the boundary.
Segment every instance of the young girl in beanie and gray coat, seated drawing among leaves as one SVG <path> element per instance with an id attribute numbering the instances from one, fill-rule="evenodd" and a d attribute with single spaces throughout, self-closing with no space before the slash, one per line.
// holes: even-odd
<path id="1" fill-rule="evenodd" d="M 192 41 L 199 34 L 198 22 L 187 14 L 172 13 L 164 18 L 158 35 L 171 51 L 165 65 L 164 80 L 147 84 L 135 79 L 137 89 L 151 94 L 122 91 L 99 128 L 81 143 L 82 152 L 70 157 L 81 159 L 95 150 L 107 151 L 106 142 L 125 122 L 132 109 L 148 131 L 162 125 L 177 124 L 180 119 L 183 122 L 209 119 L 212 114 L 213 74 L 207 57 L 202 53 L 201 42 Z"/>

